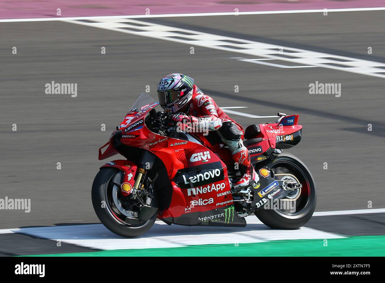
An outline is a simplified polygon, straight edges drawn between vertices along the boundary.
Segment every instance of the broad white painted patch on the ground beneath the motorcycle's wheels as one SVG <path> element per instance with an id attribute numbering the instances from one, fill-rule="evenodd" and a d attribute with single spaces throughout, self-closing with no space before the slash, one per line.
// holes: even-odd
<path id="1" fill-rule="evenodd" d="M 274 230 L 262 224 L 256 216 L 246 218 L 247 226 L 204 227 L 160 225 L 154 226 L 143 236 L 123 238 L 115 235 L 102 224 L 50 226 L 22 228 L 22 233 L 57 240 L 64 243 L 102 250 L 174 248 L 199 244 L 259 243 L 291 239 L 335 239 L 344 236 L 302 227 L 296 230 Z"/>

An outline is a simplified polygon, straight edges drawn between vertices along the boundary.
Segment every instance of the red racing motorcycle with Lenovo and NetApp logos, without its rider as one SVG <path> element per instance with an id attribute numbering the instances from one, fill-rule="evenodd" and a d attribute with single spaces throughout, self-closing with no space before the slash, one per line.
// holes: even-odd
<path id="1" fill-rule="evenodd" d="M 235 190 L 241 177 L 218 134 L 179 131 L 171 113 L 142 93 L 109 141 L 99 149 L 107 162 L 92 184 L 100 221 L 124 237 L 146 233 L 156 221 L 187 226 L 246 226 L 254 213 L 274 229 L 296 229 L 312 216 L 316 187 L 309 169 L 283 152 L 301 140 L 299 115 L 278 113 L 275 123 L 244 132 L 259 182 Z"/>

